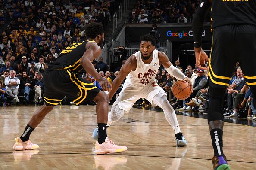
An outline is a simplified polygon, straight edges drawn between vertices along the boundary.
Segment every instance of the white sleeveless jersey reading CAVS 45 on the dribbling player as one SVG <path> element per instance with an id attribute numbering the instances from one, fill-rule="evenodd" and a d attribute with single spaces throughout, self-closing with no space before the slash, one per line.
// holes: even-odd
<path id="1" fill-rule="evenodd" d="M 125 85 L 143 86 L 147 84 L 153 84 L 156 82 L 156 74 L 160 67 L 158 59 L 158 51 L 153 51 L 153 59 L 150 64 L 145 64 L 142 61 L 141 52 L 138 51 L 135 54 L 137 60 L 136 70 L 131 71 L 125 80 Z M 157 83 L 156 83 L 157 84 Z"/>

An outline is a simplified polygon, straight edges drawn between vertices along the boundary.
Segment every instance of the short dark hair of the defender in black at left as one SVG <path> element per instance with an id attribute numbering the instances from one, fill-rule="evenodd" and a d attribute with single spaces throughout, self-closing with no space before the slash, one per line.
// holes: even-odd
<path id="1" fill-rule="evenodd" d="M 100 23 L 92 22 L 85 27 L 86 38 L 94 39 L 103 33 L 103 26 Z"/>

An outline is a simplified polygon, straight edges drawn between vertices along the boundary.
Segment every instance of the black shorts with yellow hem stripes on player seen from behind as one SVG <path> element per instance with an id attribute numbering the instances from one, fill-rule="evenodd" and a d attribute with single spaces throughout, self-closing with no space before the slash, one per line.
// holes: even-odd
<path id="1" fill-rule="evenodd" d="M 228 86 L 237 61 L 240 62 L 246 84 L 256 87 L 256 26 L 216 27 L 213 30 L 209 64 L 210 85 Z"/>

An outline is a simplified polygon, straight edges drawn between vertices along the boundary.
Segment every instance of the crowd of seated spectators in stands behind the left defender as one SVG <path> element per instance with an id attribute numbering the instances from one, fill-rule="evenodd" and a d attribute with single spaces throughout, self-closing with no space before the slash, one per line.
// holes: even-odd
<path id="1" fill-rule="evenodd" d="M 1 0 L 0 105 L 42 103 L 47 63 L 86 39 L 91 22 L 106 27 L 121 0 Z M 104 73 L 108 70 L 100 60 Z"/>

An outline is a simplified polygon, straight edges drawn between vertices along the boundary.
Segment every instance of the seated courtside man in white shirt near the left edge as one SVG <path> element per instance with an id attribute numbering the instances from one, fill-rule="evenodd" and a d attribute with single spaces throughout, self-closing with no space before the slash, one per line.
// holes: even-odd
<path id="1" fill-rule="evenodd" d="M 5 78 L 4 84 L 6 85 L 6 94 L 12 99 L 13 104 L 16 105 L 16 103 L 19 102 L 18 89 L 20 81 L 19 78 L 16 77 L 14 70 L 10 70 L 10 76 Z"/>

